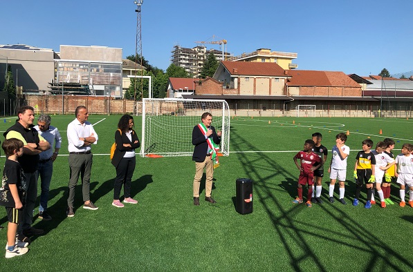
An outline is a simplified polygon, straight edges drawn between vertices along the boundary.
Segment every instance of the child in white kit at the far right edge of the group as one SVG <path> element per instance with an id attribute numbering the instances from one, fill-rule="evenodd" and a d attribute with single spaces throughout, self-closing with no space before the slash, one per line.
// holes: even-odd
<path id="1" fill-rule="evenodd" d="M 406 205 L 405 202 L 405 186 L 409 186 L 409 204 L 413 207 L 413 151 L 412 144 L 403 144 L 401 154 L 396 157 L 396 177 L 397 183 L 400 184 L 401 202 L 398 204 L 401 207 Z"/>

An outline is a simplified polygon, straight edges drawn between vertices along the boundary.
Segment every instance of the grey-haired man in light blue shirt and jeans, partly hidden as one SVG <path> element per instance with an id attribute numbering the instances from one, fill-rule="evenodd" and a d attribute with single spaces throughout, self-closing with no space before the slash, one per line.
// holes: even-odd
<path id="1" fill-rule="evenodd" d="M 35 129 L 42 135 L 46 141 L 55 146 L 55 151 L 53 148 L 49 148 L 39 154 L 39 164 L 37 164 L 37 175 L 36 179 L 39 179 L 40 175 L 40 188 L 42 193 L 40 193 L 40 204 L 39 204 L 39 218 L 44 221 L 52 220 L 51 215 L 47 213 L 47 202 L 48 202 L 48 192 L 51 185 L 52 173 L 53 173 L 53 162 L 59 154 L 60 146 L 62 146 L 62 137 L 60 136 L 59 130 L 54 126 L 51 126 L 50 115 L 39 115 L 37 118 L 37 126 Z"/>

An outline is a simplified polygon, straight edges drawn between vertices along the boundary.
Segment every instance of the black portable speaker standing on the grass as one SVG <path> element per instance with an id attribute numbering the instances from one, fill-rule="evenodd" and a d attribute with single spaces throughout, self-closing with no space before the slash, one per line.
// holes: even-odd
<path id="1" fill-rule="evenodd" d="M 251 179 L 237 179 L 235 191 L 235 210 L 241 215 L 253 212 L 253 181 Z"/>

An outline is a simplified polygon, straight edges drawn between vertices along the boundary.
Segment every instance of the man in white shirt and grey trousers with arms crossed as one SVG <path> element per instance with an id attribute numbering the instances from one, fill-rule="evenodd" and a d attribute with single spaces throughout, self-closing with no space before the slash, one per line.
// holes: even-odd
<path id="1" fill-rule="evenodd" d="M 91 144 L 98 144 L 98 134 L 91 123 L 87 122 L 89 113 L 85 106 L 78 106 L 75 110 L 76 119 L 67 126 L 68 162 L 71 170 L 68 183 L 68 217 L 75 216 L 73 202 L 75 199 L 75 187 L 79 175 L 82 177 L 83 208 L 97 210 L 98 207 L 90 200 L 90 177 L 92 168 Z"/>

